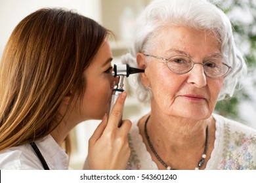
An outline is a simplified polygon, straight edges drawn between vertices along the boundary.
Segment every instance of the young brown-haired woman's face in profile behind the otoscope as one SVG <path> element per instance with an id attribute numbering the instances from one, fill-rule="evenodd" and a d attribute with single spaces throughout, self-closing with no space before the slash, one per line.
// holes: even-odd
<path id="1" fill-rule="evenodd" d="M 113 84 L 117 82 L 112 76 L 111 61 L 110 44 L 104 41 L 85 71 L 86 89 L 80 105 L 83 120 L 101 119 L 108 112 Z"/>

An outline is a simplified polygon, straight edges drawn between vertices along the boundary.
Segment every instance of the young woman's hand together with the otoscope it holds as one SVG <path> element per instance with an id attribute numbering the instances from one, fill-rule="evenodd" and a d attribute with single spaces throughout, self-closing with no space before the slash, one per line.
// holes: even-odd
<path id="1" fill-rule="evenodd" d="M 102 122 L 89 140 L 88 163 L 85 163 L 85 169 L 117 170 L 124 169 L 126 166 L 131 152 L 127 139 L 127 134 L 131 129 L 131 121 L 125 120 L 121 125 L 126 98 L 126 93 L 123 92 L 123 80 L 125 76 L 128 77 L 131 74 L 141 72 L 144 70 L 135 69 L 129 65 L 114 65 L 112 75 L 118 77 L 118 82 L 112 90 L 110 112 L 109 115 L 104 115 Z M 118 115 L 114 112 L 111 114 L 112 110 L 118 112 Z M 104 152 L 104 154 L 99 156 L 95 152 Z"/>

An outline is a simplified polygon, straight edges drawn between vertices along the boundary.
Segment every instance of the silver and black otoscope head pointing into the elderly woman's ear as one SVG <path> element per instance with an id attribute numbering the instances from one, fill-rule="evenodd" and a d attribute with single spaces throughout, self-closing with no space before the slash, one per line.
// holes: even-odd
<path id="1" fill-rule="evenodd" d="M 129 76 L 135 73 L 144 73 L 143 69 L 137 69 L 134 67 L 130 67 L 128 64 L 114 64 L 114 71 L 112 72 L 113 76 Z"/>

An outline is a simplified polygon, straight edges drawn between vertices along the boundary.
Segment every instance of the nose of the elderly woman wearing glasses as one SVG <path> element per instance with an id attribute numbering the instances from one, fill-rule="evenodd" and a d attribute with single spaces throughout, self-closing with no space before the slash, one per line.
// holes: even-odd
<path id="1" fill-rule="evenodd" d="M 193 69 L 188 72 L 188 82 L 194 84 L 197 88 L 206 86 L 206 76 L 203 71 L 203 65 L 195 64 Z"/>

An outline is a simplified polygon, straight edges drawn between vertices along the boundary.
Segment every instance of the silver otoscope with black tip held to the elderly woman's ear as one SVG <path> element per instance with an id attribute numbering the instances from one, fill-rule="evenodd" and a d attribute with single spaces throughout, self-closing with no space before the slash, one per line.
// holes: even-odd
<path id="1" fill-rule="evenodd" d="M 123 80 L 124 80 L 125 76 L 128 77 L 131 74 L 143 73 L 143 72 L 144 72 L 144 70 L 130 67 L 128 64 L 118 64 L 118 65 L 114 64 L 114 71 L 112 71 L 112 76 L 118 77 L 118 82 L 114 86 L 114 89 L 112 90 L 110 112 L 111 112 L 114 104 L 116 103 L 117 97 L 121 94 L 121 92 L 124 91 L 123 90 Z M 122 118 L 120 118 L 120 120 L 119 120 L 118 127 L 121 125 L 121 121 L 122 121 Z"/>

